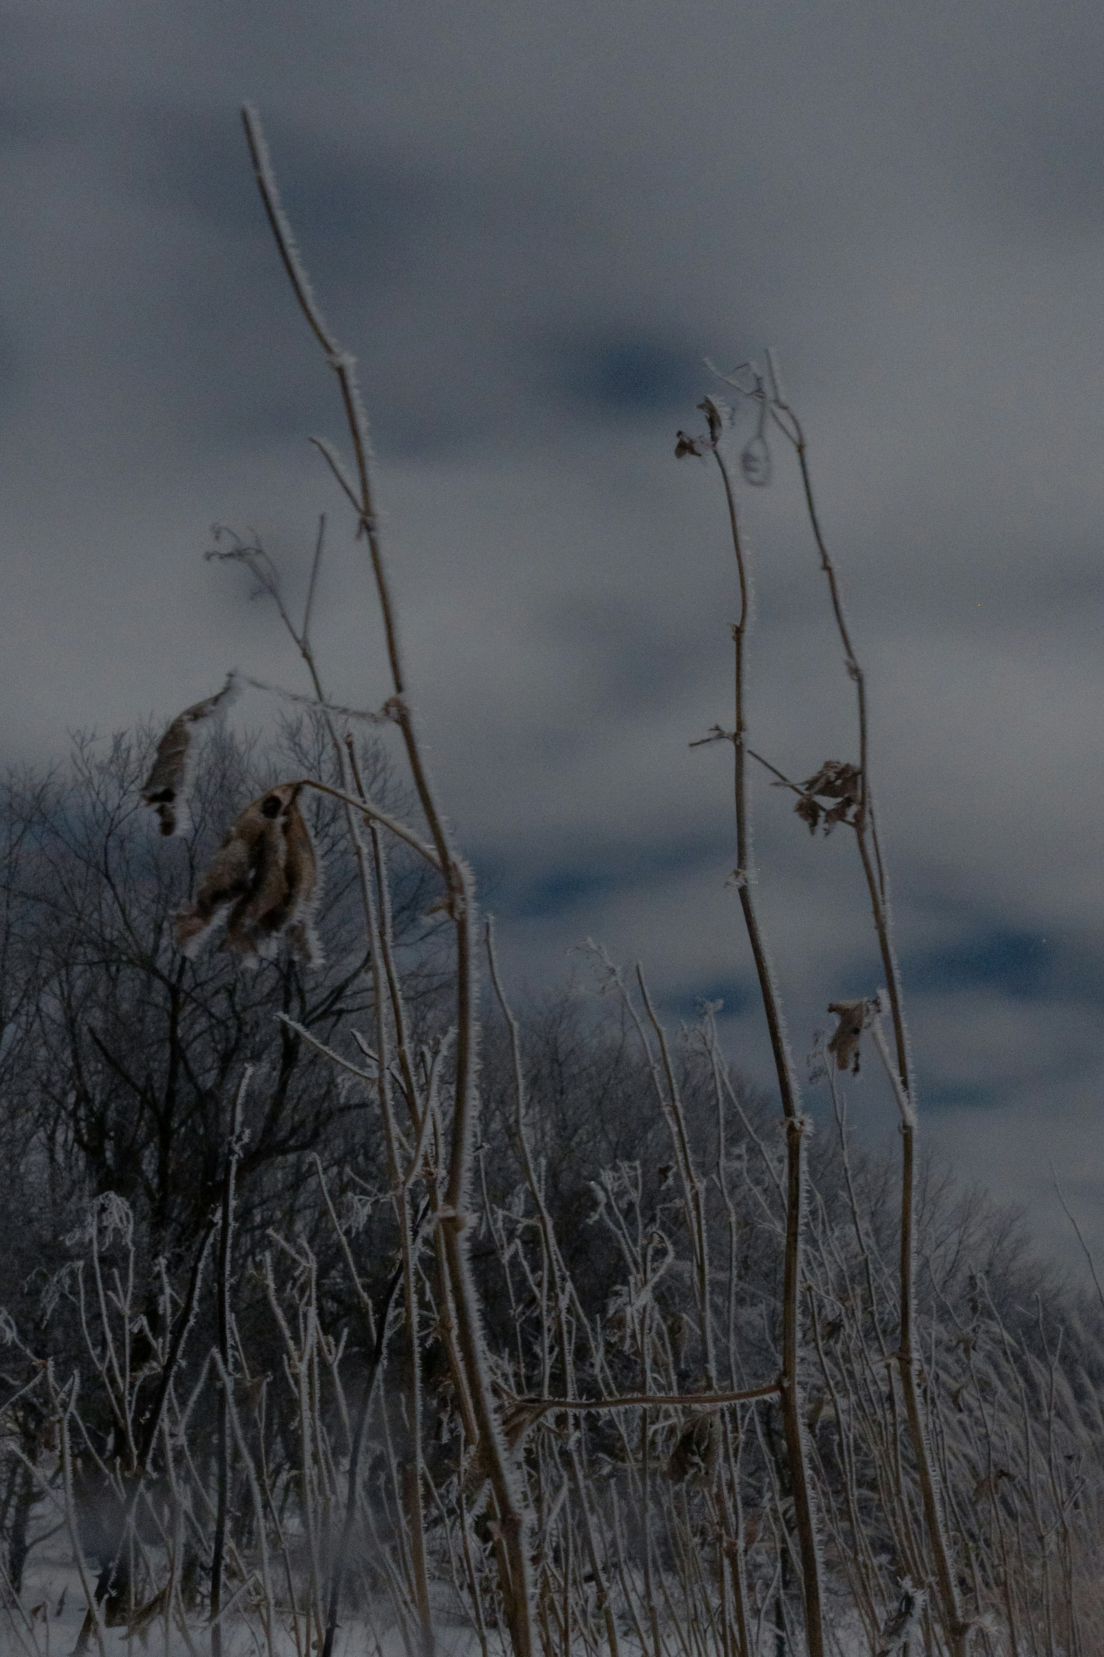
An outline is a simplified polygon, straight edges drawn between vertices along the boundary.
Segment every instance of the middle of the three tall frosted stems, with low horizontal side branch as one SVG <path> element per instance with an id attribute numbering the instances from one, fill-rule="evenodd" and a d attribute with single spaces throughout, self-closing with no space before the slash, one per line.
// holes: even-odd
<path id="1" fill-rule="evenodd" d="M 708 399 L 707 399 L 708 401 Z M 712 406 L 710 406 L 712 409 Z M 722 421 L 717 413 L 710 413 L 712 454 L 725 486 L 725 502 L 728 505 L 728 527 L 732 532 L 732 548 L 740 578 L 740 620 L 733 623 L 732 638 L 735 645 L 735 714 L 737 726 L 732 736 L 735 752 L 735 812 L 737 812 L 737 890 L 743 923 L 751 944 L 755 971 L 763 998 L 763 1012 L 770 1032 L 771 1052 L 775 1056 L 775 1072 L 778 1075 L 778 1092 L 783 1115 L 786 1118 L 786 1249 L 783 1259 L 783 1352 L 781 1352 L 781 1417 L 786 1437 L 786 1455 L 790 1461 L 790 1480 L 793 1485 L 794 1523 L 801 1551 L 801 1587 L 804 1594 L 804 1637 L 809 1645 L 809 1657 L 824 1657 L 824 1622 L 821 1611 L 821 1561 L 816 1544 L 816 1521 L 813 1516 L 813 1496 L 809 1486 L 809 1468 L 804 1450 L 804 1422 L 801 1418 L 801 1397 L 798 1389 L 798 1347 L 799 1347 L 799 1289 L 801 1289 L 801 1221 L 804 1205 L 804 1117 L 798 1109 L 798 1089 L 790 1067 L 790 1054 L 778 1006 L 778 993 L 771 976 L 766 949 L 760 935 L 755 905 L 750 886 L 750 835 L 748 835 L 748 794 L 745 777 L 745 732 L 743 717 L 743 651 L 750 621 L 748 577 L 740 542 L 740 525 L 737 520 L 737 500 L 732 489 L 732 477 L 718 437 Z"/>

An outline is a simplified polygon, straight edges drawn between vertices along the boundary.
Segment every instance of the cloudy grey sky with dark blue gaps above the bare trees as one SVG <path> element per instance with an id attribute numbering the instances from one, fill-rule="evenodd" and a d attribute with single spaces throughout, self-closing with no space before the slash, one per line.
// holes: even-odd
<path id="1" fill-rule="evenodd" d="M 593 935 L 768 1079 L 737 900 L 735 577 L 677 428 L 773 345 L 872 701 L 925 1132 L 1104 1246 L 1104 12 L 1092 5 L 3 5 L 0 742 L 295 683 L 214 522 L 255 529 L 334 698 L 387 686 L 306 437 L 333 376 L 286 292 L 260 108 L 361 363 L 417 716 L 515 984 Z M 735 447 L 746 437 L 745 426 Z M 856 757 L 793 459 L 740 499 L 753 746 Z M 258 719 L 250 703 L 238 717 Z M 801 1057 L 877 988 L 854 840 L 755 779 Z M 576 968 L 578 971 L 578 968 Z M 851 1089 L 879 1132 L 877 1077 Z M 816 1094 L 814 1112 L 823 1110 Z"/>

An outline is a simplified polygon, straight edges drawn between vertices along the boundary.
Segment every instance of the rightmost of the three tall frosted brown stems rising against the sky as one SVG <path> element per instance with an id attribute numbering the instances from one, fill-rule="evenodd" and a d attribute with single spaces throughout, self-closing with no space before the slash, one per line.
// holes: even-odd
<path id="1" fill-rule="evenodd" d="M 809 527 L 813 530 L 813 540 L 816 542 L 816 550 L 821 558 L 821 570 L 828 580 L 828 592 L 833 606 L 833 616 L 836 620 L 836 628 L 839 631 L 839 640 L 844 648 L 844 663 L 847 668 L 847 676 L 856 686 L 856 703 L 857 703 L 857 719 L 859 719 L 859 800 L 854 812 L 854 832 L 859 845 L 859 857 L 862 860 L 862 873 L 866 878 L 871 913 L 874 916 L 874 930 L 877 933 L 877 944 L 882 956 L 882 969 L 886 973 L 886 986 L 889 996 L 889 1011 L 894 1026 L 894 1044 L 897 1049 L 897 1075 L 900 1087 L 907 1095 L 910 1110 L 902 1114 L 900 1137 L 902 1137 L 902 1158 L 900 1158 L 900 1341 L 899 1341 L 899 1372 L 900 1387 L 905 1402 L 905 1420 L 909 1423 L 909 1438 L 912 1443 L 912 1455 L 917 1463 L 917 1476 L 920 1480 L 920 1496 L 924 1501 L 924 1518 L 927 1533 L 930 1538 L 932 1553 L 935 1558 L 935 1581 L 938 1586 L 940 1609 L 943 1614 L 943 1624 L 947 1629 L 947 1637 L 952 1645 L 953 1657 L 965 1657 L 970 1640 L 970 1626 L 963 1621 L 962 1599 L 958 1594 L 958 1582 L 955 1574 L 955 1566 L 950 1553 L 950 1541 L 947 1536 L 947 1524 L 943 1516 L 942 1493 L 937 1491 L 935 1471 L 932 1465 L 932 1452 L 927 1438 L 927 1427 L 924 1423 L 924 1413 L 920 1408 L 919 1389 L 915 1380 L 915 1301 L 914 1301 L 914 1191 L 915 1191 L 915 1089 L 912 1085 L 910 1065 L 909 1065 L 909 1046 L 905 1041 L 904 1012 L 902 1012 L 902 996 L 900 996 L 900 974 L 897 971 L 897 961 L 894 956 L 890 935 L 889 935 L 889 908 L 886 895 L 886 873 L 882 867 L 882 855 L 877 843 L 877 824 L 874 820 L 874 809 L 871 800 L 869 785 L 869 754 L 867 754 L 867 704 L 866 704 L 866 676 L 859 664 L 851 643 L 851 633 L 847 630 L 847 621 L 842 610 L 842 600 L 839 595 L 839 583 L 836 578 L 836 568 L 831 557 L 828 555 L 828 547 L 824 543 L 824 535 L 821 532 L 819 515 L 816 510 L 816 495 L 813 492 L 813 477 L 809 472 L 809 457 L 804 441 L 804 431 L 798 416 L 793 413 L 788 403 L 783 401 L 778 388 L 778 373 L 775 370 L 773 358 L 770 360 L 771 370 L 771 403 L 775 419 L 780 429 L 786 434 L 798 456 L 798 466 L 801 469 L 801 486 L 804 489 L 804 504 L 809 517 Z"/>

